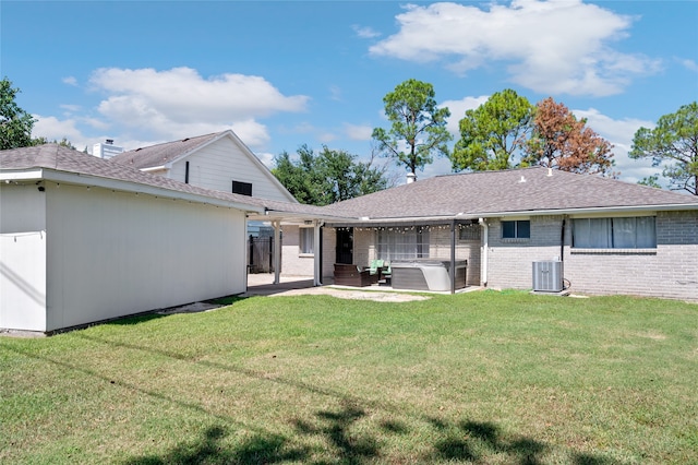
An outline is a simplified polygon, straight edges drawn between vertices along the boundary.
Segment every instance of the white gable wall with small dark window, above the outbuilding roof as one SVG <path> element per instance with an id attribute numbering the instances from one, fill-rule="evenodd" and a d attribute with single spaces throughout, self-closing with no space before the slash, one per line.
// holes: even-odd
<path id="1" fill-rule="evenodd" d="M 184 182 L 189 162 L 189 183 L 231 192 L 232 181 L 252 183 L 252 196 L 289 202 L 290 199 L 231 139 L 222 138 L 172 166 L 170 178 Z"/>

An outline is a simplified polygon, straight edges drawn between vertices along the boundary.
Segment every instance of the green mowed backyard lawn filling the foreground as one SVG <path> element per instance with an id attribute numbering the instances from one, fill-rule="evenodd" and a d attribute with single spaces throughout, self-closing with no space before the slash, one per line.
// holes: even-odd
<path id="1" fill-rule="evenodd" d="M 0 463 L 698 463 L 698 307 L 253 297 L 0 338 Z"/>

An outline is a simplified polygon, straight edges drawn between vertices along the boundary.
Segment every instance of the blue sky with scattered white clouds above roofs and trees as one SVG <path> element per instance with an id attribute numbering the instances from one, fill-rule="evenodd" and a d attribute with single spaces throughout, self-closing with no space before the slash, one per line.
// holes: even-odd
<path id="1" fill-rule="evenodd" d="M 414 78 L 454 141 L 495 92 L 552 96 L 635 182 L 659 170 L 627 158 L 635 131 L 698 98 L 698 1 L 3 0 L 0 14 L 0 73 L 34 135 L 79 150 L 231 128 L 267 165 L 302 144 L 365 159 L 383 96 Z M 435 159 L 418 177 L 447 172 Z"/>

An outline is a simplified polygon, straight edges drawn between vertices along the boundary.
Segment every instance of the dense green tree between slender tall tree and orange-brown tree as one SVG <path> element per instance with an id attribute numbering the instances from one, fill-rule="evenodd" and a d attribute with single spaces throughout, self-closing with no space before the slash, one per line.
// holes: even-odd
<path id="1" fill-rule="evenodd" d="M 514 167 L 515 154 L 526 147 L 532 116 L 533 106 L 510 88 L 467 110 L 450 158 L 454 171 Z"/>

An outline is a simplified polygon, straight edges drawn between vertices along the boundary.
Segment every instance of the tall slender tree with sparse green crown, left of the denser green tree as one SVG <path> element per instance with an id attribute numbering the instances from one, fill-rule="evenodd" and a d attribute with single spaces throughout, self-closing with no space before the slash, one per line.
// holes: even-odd
<path id="1" fill-rule="evenodd" d="M 385 115 L 392 122 L 389 130 L 375 128 L 373 139 L 378 150 L 398 166 L 405 165 L 416 175 L 417 169 L 432 163 L 432 154 L 448 155 L 452 135 L 446 130 L 448 108 L 437 108 L 434 87 L 410 79 L 383 97 Z"/>

